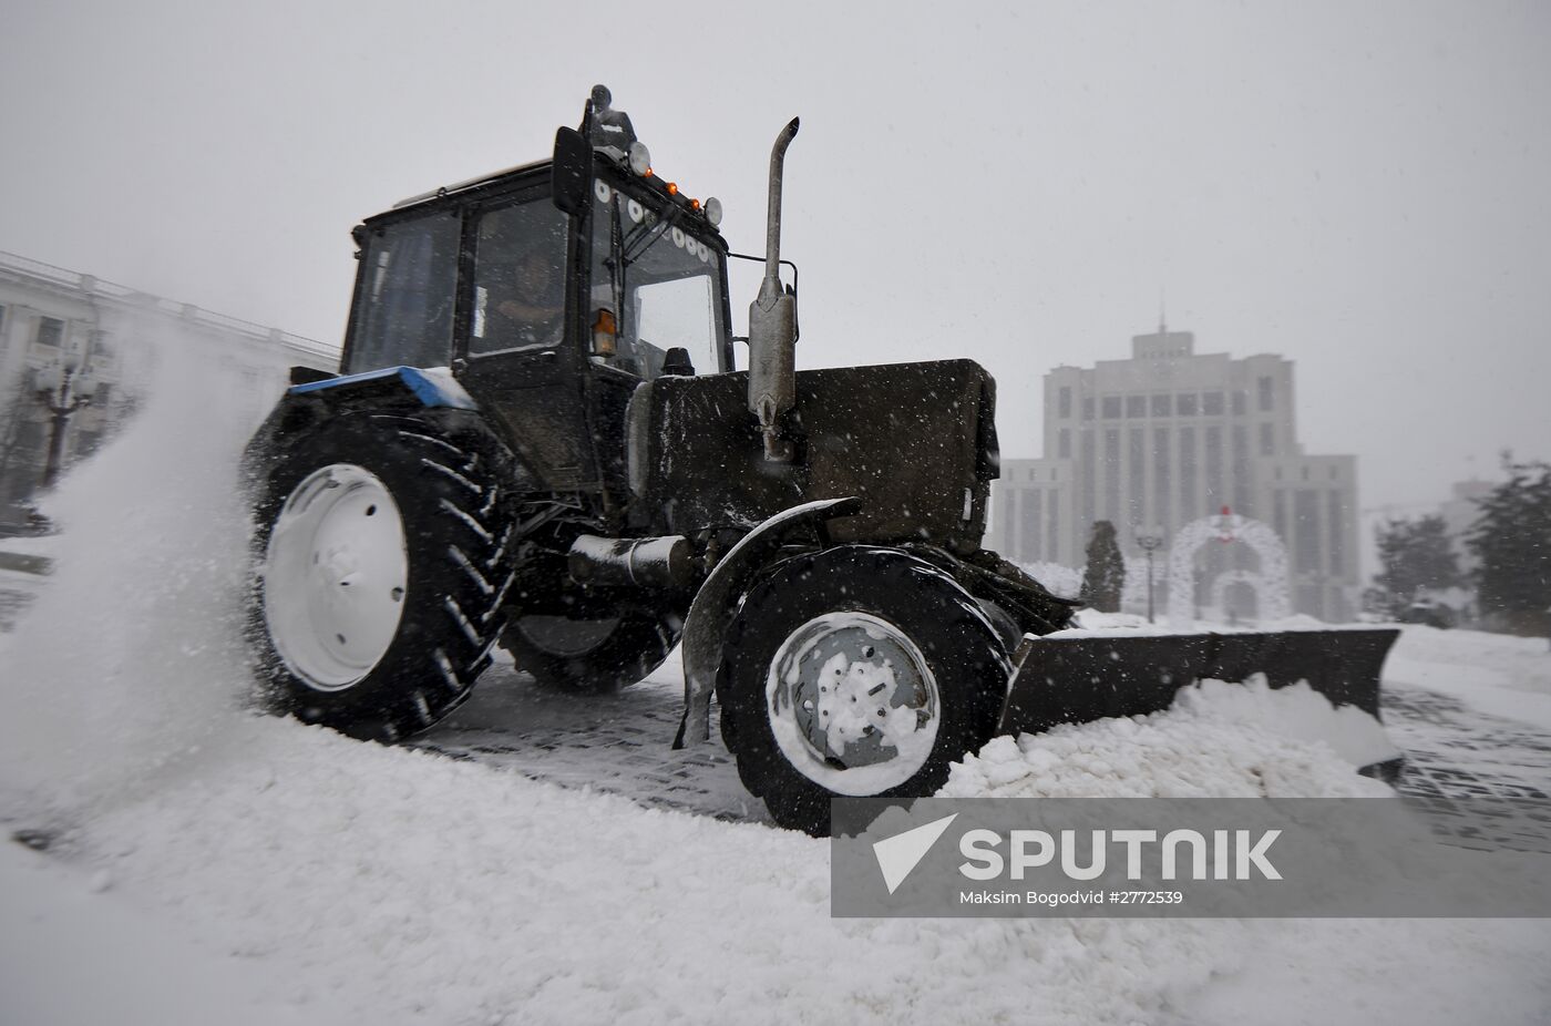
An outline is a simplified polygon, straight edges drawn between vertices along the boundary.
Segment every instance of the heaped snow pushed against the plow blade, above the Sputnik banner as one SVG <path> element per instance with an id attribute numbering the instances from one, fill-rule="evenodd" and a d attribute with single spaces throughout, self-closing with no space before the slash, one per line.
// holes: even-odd
<path id="1" fill-rule="evenodd" d="M 1323 706 L 1323 714 L 1320 706 Z M 1202 681 L 1152 716 L 997 737 L 951 767 L 948 798 L 1362 798 L 1391 793 L 1300 731 L 1348 726 L 1373 744 L 1371 717 L 1339 716 L 1307 685 L 1272 691 Z M 1366 722 L 1352 722 L 1346 714 Z M 1290 733 L 1289 733 L 1290 731 Z M 1382 742 L 1387 745 L 1387 742 Z M 1390 750 L 1393 753 L 1393 750 Z M 1371 761 L 1371 759 L 1370 759 Z"/>

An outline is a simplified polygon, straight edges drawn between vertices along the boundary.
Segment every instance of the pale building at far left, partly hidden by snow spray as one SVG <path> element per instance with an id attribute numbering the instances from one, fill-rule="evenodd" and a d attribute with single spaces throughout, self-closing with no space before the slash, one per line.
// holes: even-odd
<path id="1" fill-rule="evenodd" d="M 268 402 L 261 385 L 276 368 L 335 369 L 338 362 L 337 349 L 310 338 L 0 253 L 0 525 L 25 522 L 43 481 L 56 430 L 48 402 L 59 400 L 39 394 L 50 368 L 70 368 L 74 393 L 90 380 L 90 404 L 62 422 L 60 464 L 68 466 L 95 452 L 143 396 L 150 368 L 133 355 L 133 335 L 171 326 L 217 348 L 254 383 L 234 404 Z"/>

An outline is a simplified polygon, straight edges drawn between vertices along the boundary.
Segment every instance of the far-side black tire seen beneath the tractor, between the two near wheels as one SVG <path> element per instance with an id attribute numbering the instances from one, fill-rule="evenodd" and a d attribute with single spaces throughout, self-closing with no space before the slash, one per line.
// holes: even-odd
<path id="1" fill-rule="evenodd" d="M 682 627 L 684 618 L 676 613 L 633 604 L 622 604 L 613 616 L 596 619 L 515 612 L 501 635 L 501 647 L 541 688 L 608 694 L 662 666 Z"/>

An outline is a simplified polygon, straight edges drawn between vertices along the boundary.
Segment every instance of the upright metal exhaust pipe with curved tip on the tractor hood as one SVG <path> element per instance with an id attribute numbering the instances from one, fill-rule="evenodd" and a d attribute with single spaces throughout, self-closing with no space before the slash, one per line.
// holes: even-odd
<path id="1" fill-rule="evenodd" d="M 765 220 L 765 281 L 749 304 L 749 413 L 760 422 L 765 458 L 791 463 L 791 441 L 780 419 L 797 402 L 797 296 L 780 284 L 780 183 L 786 147 L 797 137 L 793 118 L 771 147 L 771 192 Z"/>

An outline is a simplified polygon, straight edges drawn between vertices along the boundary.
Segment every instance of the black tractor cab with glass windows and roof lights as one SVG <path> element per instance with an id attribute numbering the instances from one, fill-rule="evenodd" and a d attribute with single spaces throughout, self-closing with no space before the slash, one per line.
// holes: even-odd
<path id="1" fill-rule="evenodd" d="M 450 366 L 544 492 L 628 500 L 625 407 L 732 369 L 721 205 L 653 169 L 594 90 L 555 154 L 411 197 L 355 230 L 343 373 Z"/>

